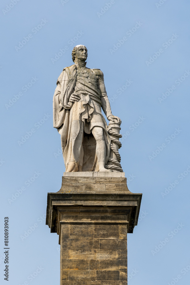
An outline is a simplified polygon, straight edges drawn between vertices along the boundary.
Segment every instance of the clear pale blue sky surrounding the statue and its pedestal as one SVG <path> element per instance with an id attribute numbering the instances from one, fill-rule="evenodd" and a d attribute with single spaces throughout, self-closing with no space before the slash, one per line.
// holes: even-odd
<path id="1" fill-rule="evenodd" d="M 65 170 L 52 98 L 77 44 L 104 73 L 128 188 L 143 193 L 128 284 L 189 284 L 189 9 L 187 0 L 1 1 L 1 284 L 4 217 L 9 284 L 60 282 L 58 235 L 44 219 Z"/>

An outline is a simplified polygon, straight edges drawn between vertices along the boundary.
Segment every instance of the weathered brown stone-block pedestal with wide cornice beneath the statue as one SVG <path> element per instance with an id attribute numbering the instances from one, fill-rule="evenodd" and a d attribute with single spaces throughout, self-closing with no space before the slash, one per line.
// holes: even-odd
<path id="1" fill-rule="evenodd" d="M 48 193 L 46 217 L 59 235 L 61 285 L 127 284 L 127 233 L 141 197 L 122 172 L 64 173 L 61 189 Z"/>

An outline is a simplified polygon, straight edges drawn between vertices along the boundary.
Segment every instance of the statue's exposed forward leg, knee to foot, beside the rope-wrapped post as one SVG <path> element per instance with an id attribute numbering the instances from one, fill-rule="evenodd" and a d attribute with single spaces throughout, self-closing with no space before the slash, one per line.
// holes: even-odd
<path id="1" fill-rule="evenodd" d="M 93 127 L 92 134 L 96 140 L 96 155 L 98 159 L 99 171 L 110 172 L 112 170 L 105 168 L 106 145 L 101 127 Z"/>

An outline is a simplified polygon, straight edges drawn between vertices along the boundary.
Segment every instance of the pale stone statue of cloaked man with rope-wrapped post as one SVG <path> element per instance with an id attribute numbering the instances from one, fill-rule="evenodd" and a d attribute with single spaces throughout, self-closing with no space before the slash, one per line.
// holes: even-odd
<path id="1" fill-rule="evenodd" d="M 61 135 L 66 172 L 122 172 L 121 120 L 111 112 L 103 72 L 86 67 L 83 45 L 73 48 L 72 59 L 74 64 L 64 68 L 57 80 L 53 98 L 54 128 Z"/>

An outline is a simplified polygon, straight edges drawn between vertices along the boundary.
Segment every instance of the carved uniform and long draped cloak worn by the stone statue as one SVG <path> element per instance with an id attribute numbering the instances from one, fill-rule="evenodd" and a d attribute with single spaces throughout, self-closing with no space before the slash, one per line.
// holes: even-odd
<path id="1" fill-rule="evenodd" d="M 69 102 L 73 92 L 79 102 Z M 64 68 L 60 74 L 53 98 L 54 128 L 61 135 L 66 172 L 98 171 L 96 141 L 91 133 L 95 126 L 103 128 L 107 163 L 111 139 L 109 127 L 101 113 L 101 104 L 109 117 L 112 115 L 104 86 L 103 74 L 77 65 Z"/>

